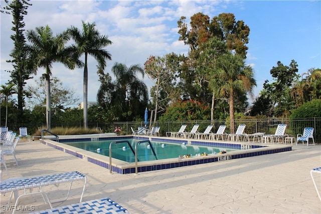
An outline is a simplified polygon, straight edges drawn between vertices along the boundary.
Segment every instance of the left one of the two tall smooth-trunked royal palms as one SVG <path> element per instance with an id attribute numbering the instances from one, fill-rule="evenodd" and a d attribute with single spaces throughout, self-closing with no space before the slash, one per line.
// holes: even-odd
<path id="1" fill-rule="evenodd" d="M 51 129 L 50 75 L 52 65 L 55 62 L 60 62 L 69 69 L 74 69 L 76 65 L 81 66 L 81 63 L 72 58 L 72 55 L 65 49 L 65 44 L 70 39 L 66 31 L 54 37 L 52 30 L 47 25 L 27 31 L 27 39 L 31 43 L 28 45 L 28 49 L 30 59 L 34 63 L 34 70 L 36 71 L 37 68 L 46 70 L 46 73 L 43 74 L 46 79 L 46 119 L 47 129 Z"/>

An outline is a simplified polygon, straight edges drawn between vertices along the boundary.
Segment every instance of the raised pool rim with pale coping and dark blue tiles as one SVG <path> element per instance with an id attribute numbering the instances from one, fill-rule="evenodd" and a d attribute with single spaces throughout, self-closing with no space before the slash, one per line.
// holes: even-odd
<path id="1" fill-rule="evenodd" d="M 55 149 L 59 149 L 61 151 L 64 151 L 68 154 L 71 154 L 73 156 L 76 156 L 81 159 L 86 159 L 88 162 L 94 163 L 96 165 L 99 165 L 101 167 L 104 167 L 106 169 L 110 169 L 109 162 L 98 160 L 92 157 L 86 157 L 82 154 L 81 151 L 71 151 L 70 149 L 67 149 L 64 147 L 64 142 L 81 142 L 81 141 L 93 141 L 93 140 L 124 140 L 124 139 L 133 139 L 133 136 L 124 136 L 124 137 L 101 137 L 99 139 L 97 138 L 71 138 L 71 139 L 59 139 L 59 142 L 55 142 L 52 140 L 40 140 L 41 143 L 46 144 L 48 146 L 51 146 Z M 137 139 L 137 137 L 136 137 Z M 158 161 L 154 161 L 148 165 L 144 166 L 138 166 L 137 172 L 146 172 L 146 171 L 154 171 L 154 170 L 162 170 L 162 169 L 170 169 L 170 168 L 176 168 L 176 167 L 182 167 L 182 166 L 191 166 L 196 164 L 204 164 L 204 163 L 211 163 L 211 162 L 217 162 L 217 161 L 223 161 L 223 160 L 230 160 L 230 159 L 237 159 L 237 158 L 244 158 L 244 157 L 253 157 L 258 155 L 265 155 L 265 154 L 273 154 L 273 153 L 279 153 L 279 152 L 286 152 L 291 151 L 292 146 L 285 145 L 285 146 L 269 146 L 264 145 L 261 143 L 229 143 L 229 142 L 211 142 L 211 141 L 199 141 L 199 140 L 190 140 L 190 139 L 176 139 L 176 138 L 160 138 L 160 137 L 139 137 L 139 140 L 146 140 L 149 139 L 150 141 L 162 141 L 162 142 L 169 142 L 169 143 L 186 143 L 191 145 L 203 145 L 203 146 L 217 146 L 217 147 L 234 147 L 234 148 L 243 148 L 246 146 L 246 148 L 243 150 L 240 150 L 242 152 L 228 152 L 225 154 L 216 154 L 216 155 L 209 155 L 209 156 L 202 156 L 202 157 L 191 157 L 191 158 L 175 158 L 176 161 L 173 162 L 173 160 L 168 161 L 168 163 L 164 163 L 166 161 L 161 161 L 159 163 Z M 249 149 L 251 148 L 251 149 Z M 253 150 L 254 149 L 254 150 Z M 259 149 L 259 150 L 256 150 Z M 79 150 L 79 149 L 78 149 Z M 173 158 L 172 158 L 173 159 Z M 170 160 L 170 159 L 169 159 Z M 118 164 L 119 165 L 119 164 Z M 135 173 L 135 163 L 126 164 L 128 167 L 118 167 L 118 165 L 114 166 L 112 165 L 112 171 L 117 172 L 119 174 L 129 174 L 129 173 Z"/>

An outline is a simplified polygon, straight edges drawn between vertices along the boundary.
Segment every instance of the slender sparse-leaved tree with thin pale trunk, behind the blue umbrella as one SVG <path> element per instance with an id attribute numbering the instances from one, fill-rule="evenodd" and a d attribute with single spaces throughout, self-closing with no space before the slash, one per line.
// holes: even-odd
<path id="1" fill-rule="evenodd" d="M 178 67 L 176 58 L 174 53 L 164 57 L 150 56 L 144 63 L 145 72 L 154 83 L 151 91 L 155 105 L 154 123 L 156 123 L 158 107 L 164 110 L 171 101 L 179 98 L 179 93 L 175 89 L 175 73 Z"/>

